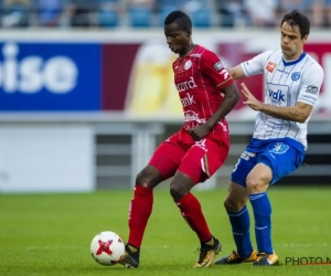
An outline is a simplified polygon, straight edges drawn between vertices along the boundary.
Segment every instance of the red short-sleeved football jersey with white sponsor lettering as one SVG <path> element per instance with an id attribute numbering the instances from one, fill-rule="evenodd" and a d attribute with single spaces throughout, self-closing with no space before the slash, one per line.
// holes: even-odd
<path id="1" fill-rule="evenodd" d="M 195 45 L 184 57 L 178 57 L 172 68 L 174 84 L 184 112 L 184 128 L 205 124 L 223 100 L 222 88 L 234 81 L 220 57 L 212 51 Z M 220 120 L 210 135 L 228 137 L 227 123 Z"/>

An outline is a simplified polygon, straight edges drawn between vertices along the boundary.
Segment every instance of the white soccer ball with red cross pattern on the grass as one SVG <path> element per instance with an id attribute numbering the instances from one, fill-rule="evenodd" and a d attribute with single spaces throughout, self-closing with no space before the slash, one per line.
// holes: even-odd
<path id="1" fill-rule="evenodd" d="M 122 258 L 125 244 L 119 235 L 105 231 L 92 240 L 90 254 L 100 265 L 114 265 Z"/>

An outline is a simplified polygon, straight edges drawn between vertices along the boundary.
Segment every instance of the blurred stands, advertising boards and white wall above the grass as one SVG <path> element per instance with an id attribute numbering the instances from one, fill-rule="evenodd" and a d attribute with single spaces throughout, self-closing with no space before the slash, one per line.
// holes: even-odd
<path id="1" fill-rule="evenodd" d="M 0 191 L 130 188 L 156 146 L 182 123 L 162 24 L 193 19 L 193 39 L 226 66 L 279 46 L 297 8 L 312 30 L 306 51 L 325 78 L 309 127 L 306 166 L 286 184 L 331 183 L 331 3 L 325 0 L 3 0 L 0 32 Z M 263 98 L 263 78 L 245 81 Z M 231 155 L 200 189 L 228 182 L 253 131 L 242 103 L 228 116 Z M 46 184 L 45 184 L 46 183 Z"/>

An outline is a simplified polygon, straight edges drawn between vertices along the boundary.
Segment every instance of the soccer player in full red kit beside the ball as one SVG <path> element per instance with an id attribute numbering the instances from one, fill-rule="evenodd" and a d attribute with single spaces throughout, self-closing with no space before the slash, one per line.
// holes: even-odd
<path id="1" fill-rule="evenodd" d="M 201 204 L 190 191 L 225 161 L 229 149 L 225 116 L 238 102 L 239 93 L 217 55 L 193 44 L 192 22 L 185 13 L 171 12 L 164 20 L 164 34 L 170 50 L 179 55 L 172 67 L 184 125 L 159 146 L 137 176 L 129 210 L 129 238 L 119 263 L 138 267 L 142 236 L 152 212 L 153 188 L 174 177 L 170 194 L 201 243 L 194 267 L 209 267 L 221 243 L 210 232 Z"/>

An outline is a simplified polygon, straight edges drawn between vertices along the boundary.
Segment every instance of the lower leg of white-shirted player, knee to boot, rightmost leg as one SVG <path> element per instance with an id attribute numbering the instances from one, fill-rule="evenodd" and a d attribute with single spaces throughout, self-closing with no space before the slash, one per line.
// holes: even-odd
<path id="1" fill-rule="evenodd" d="M 254 210 L 258 248 L 254 266 L 271 266 L 279 263 L 271 245 L 271 204 L 266 193 L 271 180 L 273 171 L 265 163 L 257 163 L 246 179 L 247 193 Z"/>

